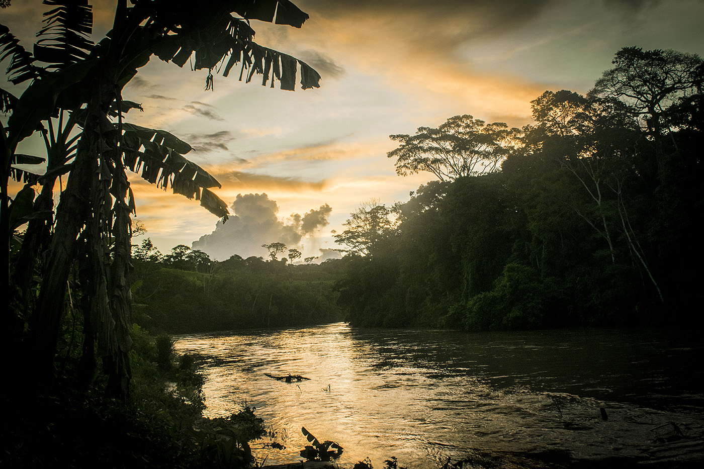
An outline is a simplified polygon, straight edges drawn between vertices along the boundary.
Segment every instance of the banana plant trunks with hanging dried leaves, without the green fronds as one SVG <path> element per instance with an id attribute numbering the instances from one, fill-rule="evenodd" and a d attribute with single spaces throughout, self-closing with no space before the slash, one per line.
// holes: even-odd
<path id="1" fill-rule="evenodd" d="M 31 341 L 39 380 L 54 379 L 54 357 L 70 270 L 77 256 L 84 301 L 84 357 L 79 379 L 89 384 L 94 343 L 108 375 L 111 396 L 129 394 L 132 345 L 129 335 L 130 211 L 129 183 L 118 145 L 120 131 L 106 118 L 100 93 L 87 108 L 73 170 L 56 210 Z M 80 239 L 80 244 L 79 244 Z"/>

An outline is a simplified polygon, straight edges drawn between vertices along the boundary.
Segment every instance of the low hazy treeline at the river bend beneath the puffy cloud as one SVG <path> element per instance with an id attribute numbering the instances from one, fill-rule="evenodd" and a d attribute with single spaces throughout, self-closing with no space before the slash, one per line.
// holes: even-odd
<path id="1" fill-rule="evenodd" d="M 176 246 L 155 253 L 151 241 L 134 249 L 132 313 L 136 323 L 170 333 L 291 327 L 341 320 L 334 283 L 340 265 L 287 265 L 259 257 L 210 261 Z"/>

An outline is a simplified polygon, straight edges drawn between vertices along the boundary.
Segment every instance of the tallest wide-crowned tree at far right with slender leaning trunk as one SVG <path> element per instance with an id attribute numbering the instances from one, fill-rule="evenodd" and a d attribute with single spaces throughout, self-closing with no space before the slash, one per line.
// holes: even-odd
<path id="1" fill-rule="evenodd" d="M 629 106 L 633 117 L 646 132 L 650 145 L 643 145 L 633 151 L 634 171 L 621 170 L 617 179 L 610 185 L 617 197 L 618 220 L 626 237 L 631 253 L 658 289 L 660 300 L 663 295 L 654 274 L 648 267 L 646 253 L 640 247 L 635 232 L 630 229 L 630 220 L 625 211 L 624 198 L 626 177 L 646 178 L 653 191 L 660 215 L 661 225 L 679 225 L 672 220 L 673 204 L 679 204 L 681 195 L 677 184 L 688 175 L 696 172 L 700 158 L 691 151 L 681 149 L 690 137 L 677 135 L 680 130 L 696 130 L 701 122 L 701 96 L 704 85 L 704 61 L 696 54 L 655 49 L 643 51 L 639 47 L 624 47 L 618 51 L 612 62 L 615 66 L 606 70 L 597 80 L 589 96 L 619 99 Z M 665 138 L 667 136 L 667 138 Z M 698 138 L 697 138 L 698 139 Z M 700 144 L 698 144 L 700 145 Z M 650 150 L 648 151 L 648 146 Z M 650 156 L 643 158 L 641 155 Z M 666 182 L 667 181 L 667 182 Z M 674 190 L 673 190 L 674 189 Z M 674 235 L 674 234 L 672 234 Z"/>

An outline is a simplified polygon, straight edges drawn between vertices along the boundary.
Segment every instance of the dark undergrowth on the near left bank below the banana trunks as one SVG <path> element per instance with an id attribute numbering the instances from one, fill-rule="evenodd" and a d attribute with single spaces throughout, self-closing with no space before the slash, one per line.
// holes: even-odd
<path id="1" fill-rule="evenodd" d="M 194 356 L 177 356 L 166 334 L 130 333 L 129 399 L 111 399 L 98 373 L 89 389 L 75 387 L 77 351 L 69 344 L 54 392 L 1 394 L 3 468 L 241 468 L 249 442 L 265 425 L 251 408 L 229 418 L 203 418 L 203 377 Z"/>

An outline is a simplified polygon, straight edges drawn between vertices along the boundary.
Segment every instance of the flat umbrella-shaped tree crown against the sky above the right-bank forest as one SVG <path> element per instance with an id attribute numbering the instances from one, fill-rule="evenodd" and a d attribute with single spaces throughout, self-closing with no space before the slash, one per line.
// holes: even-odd
<path id="1" fill-rule="evenodd" d="M 401 146 L 386 154 L 396 158 L 396 173 L 427 171 L 441 181 L 491 173 L 517 144 L 518 129 L 487 124 L 471 115 L 455 115 L 434 129 L 418 127 L 415 135 L 391 135 Z"/>

